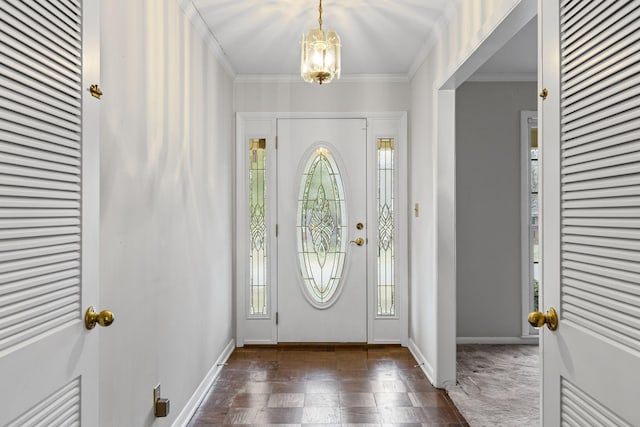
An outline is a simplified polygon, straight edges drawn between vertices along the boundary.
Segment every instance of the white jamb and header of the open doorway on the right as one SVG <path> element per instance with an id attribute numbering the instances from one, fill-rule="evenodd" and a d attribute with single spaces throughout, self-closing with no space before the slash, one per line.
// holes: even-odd
<path id="1" fill-rule="evenodd" d="M 436 357 L 430 380 L 436 387 L 456 382 L 456 166 L 455 94 L 482 64 L 538 14 L 537 2 L 518 3 L 476 49 L 434 85 L 434 222 L 436 230 Z"/>

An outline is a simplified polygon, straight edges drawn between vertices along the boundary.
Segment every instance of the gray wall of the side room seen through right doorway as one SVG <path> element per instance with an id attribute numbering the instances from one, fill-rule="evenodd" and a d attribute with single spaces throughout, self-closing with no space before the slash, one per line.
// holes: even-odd
<path id="1" fill-rule="evenodd" d="M 457 335 L 519 337 L 520 111 L 536 83 L 468 82 L 456 91 Z"/>

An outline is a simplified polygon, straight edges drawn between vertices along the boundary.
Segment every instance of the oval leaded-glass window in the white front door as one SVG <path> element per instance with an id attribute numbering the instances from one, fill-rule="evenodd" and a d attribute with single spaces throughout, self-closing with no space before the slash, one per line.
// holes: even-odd
<path id="1" fill-rule="evenodd" d="M 346 254 L 342 177 L 331 151 L 318 147 L 302 174 L 297 211 L 298 261 L 312 303 L 330 306 L 339 289 Z"/>

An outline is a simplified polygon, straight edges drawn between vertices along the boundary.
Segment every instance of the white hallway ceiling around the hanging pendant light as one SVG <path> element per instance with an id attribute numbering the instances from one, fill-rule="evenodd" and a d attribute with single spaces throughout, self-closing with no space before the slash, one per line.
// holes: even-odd
<path id="1" fill-rule="evenodd" d="M 299 73 L 300 37 L 317 0 L 192 0 L 240 75 Z M 455 0 L 323 0 L 323 28 L 342 39 L 342 73 L 408 75 Z"/>

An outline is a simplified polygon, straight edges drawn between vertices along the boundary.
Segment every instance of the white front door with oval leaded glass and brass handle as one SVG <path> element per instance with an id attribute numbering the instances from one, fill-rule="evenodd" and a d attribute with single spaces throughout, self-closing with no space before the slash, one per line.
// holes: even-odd
<path id="1" fill-rule="evenodd" d="M 366 119 L 278 119 L 278 341 L 367 341 Z"/>

